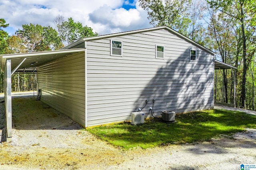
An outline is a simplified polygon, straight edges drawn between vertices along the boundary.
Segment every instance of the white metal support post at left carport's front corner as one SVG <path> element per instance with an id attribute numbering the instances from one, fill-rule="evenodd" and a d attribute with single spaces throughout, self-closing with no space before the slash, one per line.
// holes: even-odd
<path id="1" fill-rule="evenodd" d="M 6 141 L 12 141 L 12 70 L 11 60 L 6 60 L 4 67 L 4 101 L 6 120 Z"/>

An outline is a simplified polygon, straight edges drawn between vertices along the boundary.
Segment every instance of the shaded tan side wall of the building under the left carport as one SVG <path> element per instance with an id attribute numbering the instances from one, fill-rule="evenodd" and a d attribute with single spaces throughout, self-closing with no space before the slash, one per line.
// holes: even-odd
<path id="1" fill-rule="evenodd" d="M 38 67 L 41 100 L 85 127 L 85 55 Z"/>

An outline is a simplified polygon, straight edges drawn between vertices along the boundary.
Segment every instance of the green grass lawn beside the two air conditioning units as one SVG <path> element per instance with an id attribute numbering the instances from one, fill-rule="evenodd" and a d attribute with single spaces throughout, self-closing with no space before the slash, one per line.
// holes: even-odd
<path id="1" fill-rule="evenodd" d="M 143 149 L 168 143 L 207 141 L 220 134 L 229 135 L 256 129 L 256 116 L 239 111 L 206 110 L 176 115 L 176 123 L 166 124 L 162 119 L 146 119 L 143 125 L 119 123 L 87 129 L 108 143 L 132 149 Z"/>

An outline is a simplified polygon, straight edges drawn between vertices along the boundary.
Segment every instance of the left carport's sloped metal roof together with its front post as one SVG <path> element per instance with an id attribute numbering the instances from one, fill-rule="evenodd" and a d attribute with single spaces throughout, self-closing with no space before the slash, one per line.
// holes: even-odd
<path id="1" fill-rule="evenodd" d="M 84 51 L 84 48 L 80 48 L 0 55 L 1 69 L 4 72 L 4 101 L 7 141 L 11 141 L 12 139 L 12 74 L 14 74 L 15 72 L 36 73 L 36 69 L 38 66 L 58 61 L 64 57 L 72 57 L 72 55 Z"/>

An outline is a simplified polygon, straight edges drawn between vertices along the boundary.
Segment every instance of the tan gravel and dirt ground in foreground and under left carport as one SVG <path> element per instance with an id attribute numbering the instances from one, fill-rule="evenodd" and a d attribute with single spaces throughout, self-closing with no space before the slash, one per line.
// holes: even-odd
<path id="1" fill-rule="evenodd" d="M 13 97 L 12 116 L 12 142 L 6 143 L 0 103 L 1 170 L 237 170 L 240 164 L 256 164 L 256 129 L 209 142 L 124 151 L 31 96 Z"/>

